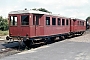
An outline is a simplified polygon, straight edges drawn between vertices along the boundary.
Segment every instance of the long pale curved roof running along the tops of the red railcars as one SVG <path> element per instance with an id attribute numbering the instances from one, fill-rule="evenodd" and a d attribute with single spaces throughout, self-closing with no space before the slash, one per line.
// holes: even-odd
<path id="1" fill-rule="evenodd" d="M 46 15 L 52 15 L 52 16 L 59 16 L 63 18 L 70 18 L 70 17 L 65 17 L 61 16 L 60 14 L 52 14 L 52 13 L 47 13 L 47 12 L 42 12 L 42 11 L 36 11 L 36 10 L 17 10 L 17 11 L 11 11 L 9 14 L 24 14 L 24 13 L 34 13 L 34 14 L 46 14 Z M 71 19 L 77 19 L 77 18 L 71 18 Z M 81 20 L 81 19 L 78 19 Z"/>

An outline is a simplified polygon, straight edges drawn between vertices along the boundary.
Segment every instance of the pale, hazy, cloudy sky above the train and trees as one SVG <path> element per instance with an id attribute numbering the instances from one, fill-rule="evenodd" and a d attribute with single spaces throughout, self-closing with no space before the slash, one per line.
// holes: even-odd
<path id="1" fill-rule="evenodd" d="M 0 16 L 25 8 L 45 8 L 53 14 L 85 20 L 90 16 L 90 0 L 0 0 Z"/>

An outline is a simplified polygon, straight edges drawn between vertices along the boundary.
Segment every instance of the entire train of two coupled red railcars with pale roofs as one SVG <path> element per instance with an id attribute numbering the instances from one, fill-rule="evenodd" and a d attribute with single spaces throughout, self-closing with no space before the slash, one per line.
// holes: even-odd
<path id="1" fill-rule="evenodd" d="M 86 22 L 41 11 L 19 10 L 9 13 L 9 36 L 35 40 L 53 40 L 71 34 L 82 34 Z"/>

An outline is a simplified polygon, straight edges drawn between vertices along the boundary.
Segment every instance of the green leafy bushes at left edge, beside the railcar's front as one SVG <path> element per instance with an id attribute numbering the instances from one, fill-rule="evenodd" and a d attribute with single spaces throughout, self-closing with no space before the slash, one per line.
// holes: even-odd
<path id="1" fill-rule="evenodd" d="M 8 30 L 8 19 L 4 19 L 2 16 L 0 16 L 0 30 Z"/>

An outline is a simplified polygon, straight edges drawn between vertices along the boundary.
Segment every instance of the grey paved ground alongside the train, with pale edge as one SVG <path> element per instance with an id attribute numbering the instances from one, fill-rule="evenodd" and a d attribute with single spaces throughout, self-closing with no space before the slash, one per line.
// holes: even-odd
<path id="1" fill-rule="evenodd" d="M 86 34 L 88 33 L 88 34 Z M 90 60 L 90 33 L 32 48 L 0 60 Z"/>

